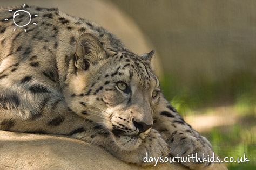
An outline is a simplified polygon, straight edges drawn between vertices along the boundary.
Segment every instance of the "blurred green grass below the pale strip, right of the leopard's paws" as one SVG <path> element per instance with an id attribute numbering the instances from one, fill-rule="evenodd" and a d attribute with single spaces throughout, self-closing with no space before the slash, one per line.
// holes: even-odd
<path id="1" fill-rule="evenodd" d="M 225 130 L 224 130 L 225 129 Z M 237 124 L 230 127 L 212 128 L 210 132 L 203 133 L 213 145 L 213 150 L 224 159 L 225 157 L 248 157 L 246 163 L 226 163 L 228 169 L 255 169 L 255 136 L 250 126 Z"/>

